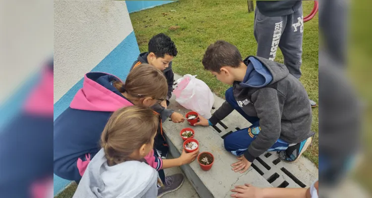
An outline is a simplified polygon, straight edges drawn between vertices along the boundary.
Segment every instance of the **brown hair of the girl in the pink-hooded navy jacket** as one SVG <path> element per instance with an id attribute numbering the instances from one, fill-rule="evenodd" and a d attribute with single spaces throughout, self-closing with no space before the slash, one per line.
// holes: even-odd
<path id="1" fill-rule="evenodd" d="M 168 93 L 168 83 L 164 74 L 146 63 L 133 68 L 126 77 L 125 84 L 115 81 L 113 85 L 121 93 L 125 90 L 133 98 L 166 99 Z"/>

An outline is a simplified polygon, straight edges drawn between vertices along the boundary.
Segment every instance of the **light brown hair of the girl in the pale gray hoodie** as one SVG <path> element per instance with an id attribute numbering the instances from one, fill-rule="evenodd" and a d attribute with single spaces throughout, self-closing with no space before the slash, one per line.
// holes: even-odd
<path id="1" fill-rule="evenodd" d="M 115 111 L 101 135 L 108 165 L 133 160 L 130 154 L 151 143 L 158 124 L 159 116 L 149 108 L 134 105 Z"/>

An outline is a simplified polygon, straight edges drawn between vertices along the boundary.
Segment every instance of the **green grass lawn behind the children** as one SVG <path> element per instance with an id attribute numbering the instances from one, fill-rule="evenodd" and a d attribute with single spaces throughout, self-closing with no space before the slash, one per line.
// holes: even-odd
<path id="1" fill-rule="evenodd" d="M 310 13 L 313 2 L 305 2 L 304 15 Z M 175 11 L 171 11 L 175 10 Z M 225 95 L 224 85 L 205 71 L 201 59 L 205 49 L 216 40 L 228 41 L 241 51 L 242 56 L 254 55 L 257 44 L 253 36 L 254 13 L 248 13 L 246 0 L 195 1 L 180 0 L 147 10 L 131 13 L 130 19 L 141 52 L 147 51 L 149 39 L 158 33 L 169 35 L 179 51 L 173 61 L 174 72 L 197 74 L 218 96 Z M 171 26 L 180 26 L 170 30 Z M 303 75 L 301 82 L 310 99 L 318 102 L 318 16 L 305 23 L 303 41 Z M 276 61 L 283 63 L 278 51 Z M 318 165 L 318 109 L 313 108 L 311 130 L 316 132 L 313 146 L 304 155 Z"/>

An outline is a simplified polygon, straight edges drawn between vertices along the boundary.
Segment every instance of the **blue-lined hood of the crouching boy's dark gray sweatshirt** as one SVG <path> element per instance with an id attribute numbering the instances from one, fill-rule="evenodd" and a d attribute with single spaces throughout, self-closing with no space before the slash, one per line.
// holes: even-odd
<path id="1" fill-rule="evenodd" d="M 289 71 L 283 64 L 257 57 L 248 56 L 244 61 L 247 65 L 242 87 L 262 88 L 278 82 L 288 76 Z"/>

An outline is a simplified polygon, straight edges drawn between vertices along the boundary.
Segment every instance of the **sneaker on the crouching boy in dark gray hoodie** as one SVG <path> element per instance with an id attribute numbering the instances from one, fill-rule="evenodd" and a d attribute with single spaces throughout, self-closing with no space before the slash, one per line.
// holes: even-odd
<path id="1" fill-rule="evenodd" d="M 312 137 L 302 141 L 301 143 L 289 146 L 286 150 L 279 151 L 279 158 L 286 162 L 295 162 L 300 158 L 302 153 L 311 145 Z"/>

